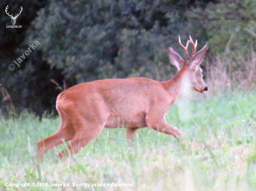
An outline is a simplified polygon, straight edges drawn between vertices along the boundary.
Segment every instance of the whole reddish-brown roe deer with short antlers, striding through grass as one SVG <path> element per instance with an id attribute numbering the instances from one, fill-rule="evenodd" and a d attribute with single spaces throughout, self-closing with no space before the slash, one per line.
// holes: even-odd
<path id="1" fill-rule="evenodd" d="M 192 45 L 189 56 L 188 46 Z M 168 48 L 169 61 L 178 68 L 178 72 L 166 82 L 148 78 L 105 79 L 81 83 L 63 91 L 56 101 L 61 118 L 59 130 L 37 142 L 38 158 L 52 147 L 71 140 L 58 155 L 62 158 L 67 152 L 77 153 L 101 133 L 103 127 L 116 128 L 124 124 L 127 140 L 132 140 L 135 130 L 150 127 L 176 138 L 180 131 L 165 121 L 165 114 L 171 104 L 181 95 L 182 79 L 189 81 L 189 89 L 203 93 L 207 85 L 202 79 L 201 64 L 208 49 L 205 45 L 195 52 L 195 44 L 189 36 L 185 51 L 186 60 L 173 49 Z"/>

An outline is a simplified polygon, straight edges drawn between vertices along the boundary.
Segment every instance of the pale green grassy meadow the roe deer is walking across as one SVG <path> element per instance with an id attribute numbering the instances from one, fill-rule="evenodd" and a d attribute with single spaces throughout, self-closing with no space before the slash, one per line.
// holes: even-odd
<path id="1" fill-rule="evenodd" d="M 125 129 L 103 129 L 74 157 L 56 158 L 65 145 L 37 165 L 36 142 L 57 131 L 60 119 L 23 112 L 0 119 L 0 190 L 82 191 L 253 191 L 256 190 L 256 92 L 179 100 L 167 121 L 185 146 L 149 128 L 136 131 L 133 146 Z M 6 183 L 68 183 L 70 187 L 6 187 Z M 73 187 L 72 183 L 91 184 Z M 97 186 L 97 184 L 105 184 Z M 109 187 L 110 183 L 134 184 Z M 92 184 L 96 184 L 92 187 Z"/>

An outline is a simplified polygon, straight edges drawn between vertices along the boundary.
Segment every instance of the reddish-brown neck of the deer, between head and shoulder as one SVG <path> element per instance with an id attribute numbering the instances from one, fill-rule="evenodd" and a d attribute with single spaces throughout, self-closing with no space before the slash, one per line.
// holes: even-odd
<path id="1" fill-rule="evenodd" d="M 187 68 L 182 67 L 171 79 L 163 82 L 163 87 L 168 91 L 171 96 L 171 104 L 175 102 L 184 90 L 184 80 L 188 77 Z"/>

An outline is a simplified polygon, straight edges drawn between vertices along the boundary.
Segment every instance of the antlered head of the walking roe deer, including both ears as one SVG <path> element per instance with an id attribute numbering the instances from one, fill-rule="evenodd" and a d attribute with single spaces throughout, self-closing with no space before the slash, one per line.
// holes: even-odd
<path id="1" fill-rule="evenodd" d="M 189 43 L 192 46 L 191 56 L 189 56 L 189 53 L 188 53 Z M 203 57 L 208 49 L 208 45 L 205 45 L 200 51 L 196 52 L 195 50 L 196 50 L 197 40 L 195 41 L 195 44 L 194 44 L 190 35 L 189 35 L 189 40 L 186 46 L 182 45 L 181 38 L 179 36 L 179 44 L 181 45 L 182 49 L 185 52 L 186 60 L 183 60 L 182 57 L 173 48 L 169 47 L 168 48 L 169 61 L 173 65 L 175 65 L 178 68 L 178 70 L 181 70 L 182 68 L 184 69 L 185 71 L 184 76 L 186 76 L 186 79 L 188 79 L 189 86 L 192 89 L 200 93 L 207 91 L 208 88 L 206 83 L 203 81 L 202 69 L 200 68 L 200 64 L 202 63 Z"/>

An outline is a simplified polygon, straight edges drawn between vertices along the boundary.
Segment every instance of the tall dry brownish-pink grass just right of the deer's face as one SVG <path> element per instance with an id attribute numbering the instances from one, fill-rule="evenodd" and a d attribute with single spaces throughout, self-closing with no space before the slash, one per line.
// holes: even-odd
<path id="1" fill-rule="evenodd" d="M 252 46 L 247 56 L 224 53 L 205 59 L 206 79 L 213 94 L 229 90 L 248 91 L 256 87 L 256 54 Z"/>

